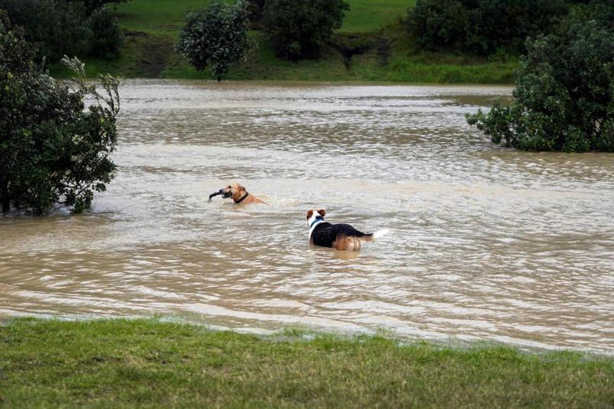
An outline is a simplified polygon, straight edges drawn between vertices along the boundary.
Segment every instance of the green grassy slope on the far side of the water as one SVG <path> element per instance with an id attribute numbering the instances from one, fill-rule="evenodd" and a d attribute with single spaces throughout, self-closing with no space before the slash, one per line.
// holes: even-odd
<path id="1" fill-rule="evenodd" d="M 518 61 L 491 61 L 456 54 L 425 53 L 414 46 L 402 18 L 407 0 L 348 0 L 351 10 L 343 27 L 317 60 L 292 63 L 278 58 L 260 31 L 251 36 L 258 44 L 246 62 L 237 64 L 231 80 L 389 81 L 424 83 L 511 83 Z M 203 0 L 131 0 L 120 4 L 120 25 L 125 45 L 120 58 L 111 61 L 85 59 L 87 74 L 111 72 L 121 77 L 202 78 L 174 50 L 185 13 L 206 4 Z M 338 47 L 367 44 L 361 55 L 344 59 Z M 62 67 L 52 65 L 52 75 L 66 77 Z"/>

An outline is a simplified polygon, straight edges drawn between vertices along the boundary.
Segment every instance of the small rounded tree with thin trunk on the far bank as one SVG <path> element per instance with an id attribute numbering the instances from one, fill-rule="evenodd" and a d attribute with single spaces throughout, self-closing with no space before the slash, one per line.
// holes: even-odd
<path id="1" fill-rule="evenodd" d="M 209 6 L 188 13 L 185 26 L 179 31 L 177 49 L 198 71 L 211 65 L 212 75 L 221 81 L 230 65 L 244 60 L 255 47 L 247 37 L 248 30 L 243 1 L 227 4 L 214 0 Z"/>

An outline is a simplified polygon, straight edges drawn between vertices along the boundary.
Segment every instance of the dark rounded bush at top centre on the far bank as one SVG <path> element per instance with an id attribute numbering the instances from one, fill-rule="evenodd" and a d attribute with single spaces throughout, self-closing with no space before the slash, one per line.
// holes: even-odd
<path id="1" fill-rule="evenodd" d="M 313 58 L 341 28 L 347 10 L 343 0 L 267 0 L 262 23 L 279 56 Z"/>

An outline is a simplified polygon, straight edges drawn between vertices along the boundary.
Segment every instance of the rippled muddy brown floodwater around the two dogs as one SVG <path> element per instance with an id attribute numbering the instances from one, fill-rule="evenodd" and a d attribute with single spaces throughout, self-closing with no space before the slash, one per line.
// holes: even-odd
<path id="1" fill-rule="evenodd" d="M 491 145 L 495 86 L 125 81 L 91 212 L 0 217 L 0 315 L 152 313 L 614 353 L 614 155 Z M 236 181 L 270 205 L 209 193 Z M 392 233 L 308 245 L 305 211 Z"/>

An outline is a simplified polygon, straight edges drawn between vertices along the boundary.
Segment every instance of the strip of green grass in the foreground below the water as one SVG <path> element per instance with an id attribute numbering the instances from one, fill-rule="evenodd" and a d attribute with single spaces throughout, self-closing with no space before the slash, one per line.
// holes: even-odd
<path id="1" fill-rule="evenodd" d="M 17 319 L 0 407 L 612 407 L 614 360 L 382 337 L 272 337 L 185 324 Z"/>

